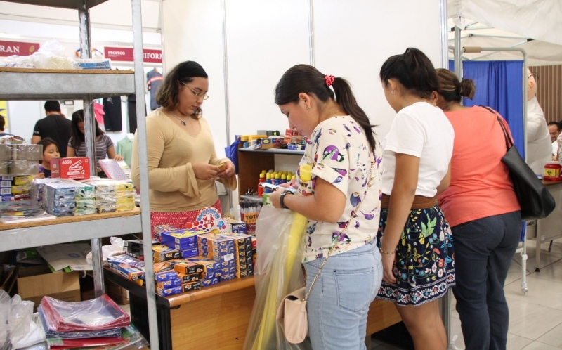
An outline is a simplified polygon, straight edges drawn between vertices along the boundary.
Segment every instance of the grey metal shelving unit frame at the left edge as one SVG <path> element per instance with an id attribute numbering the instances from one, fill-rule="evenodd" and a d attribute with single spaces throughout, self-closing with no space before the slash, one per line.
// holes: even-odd
<path id="1" fill-rule="evenodd" d="M 89 10 L 107 0 L 7 0 L 18 4 L 70 8 L 78 11 L 81 58 L 91 58 L 91 29 Z M 18 70 L 0 71 L 0 99 L 45 100 L 83 99 L 84 127 L 86 129 L 86 155 L 92 160 L 91 174 L 96 174 L 96 130 L 92 101 L 105 96 L 122 96 L 136 93 L 144 96 L 143 25 L 141 0 L 131 0 L 133 12 L 134 75 L 124 72 Z M 141 177 L 141 214 L 61 223 L 57 219 L 44 226 L 6 228 L 0 231 L 3 240 L 0 251 L 24 247 L 37 247 L 61 242 L 91 239 L 93 280 L 96 297 L 103 294 L 103 260 L 100 238 L 110 235 L 143 232 L 145 256 L 152 256 L 150 228 L 150 200 L 148 193 L 148 160 L 146 151 L 145 99 L 136 99 L 138 162 Z M 87 219 L 87 218 L 84 218 Z M 30 225 L 31 226 L 31 225 Z M 9 241 L 6 244 L 6 241 Z M 150 348 L 159 350 L 155 280 L 152 259 L 145 261 L 146 299 L 150 325 Z"/>

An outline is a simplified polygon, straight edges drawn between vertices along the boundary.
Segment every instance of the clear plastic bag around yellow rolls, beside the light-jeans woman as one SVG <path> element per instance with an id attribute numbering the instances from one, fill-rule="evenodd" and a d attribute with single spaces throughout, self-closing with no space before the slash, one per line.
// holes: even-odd
<path id="1" fill-rule="evenodd" d="M 244 349 L 312 349 L 306 340 L 290 344 L 275 319 L 281 299 L 304 285 L 301 259 L 307 219 L 286 209 L 263 207 L 256 223 L 256 299 Z"/>

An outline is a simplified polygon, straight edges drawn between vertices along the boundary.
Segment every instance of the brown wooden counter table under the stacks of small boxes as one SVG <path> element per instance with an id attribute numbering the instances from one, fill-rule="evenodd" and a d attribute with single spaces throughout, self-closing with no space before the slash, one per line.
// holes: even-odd
<path id="1" fill-rule="evenodd" d="M 131 321 L 149 339 L 146 290 L 110 269 L 105 277 L 129 290 Z M 171 297 L 156 297 L 160 349 L 242 349 L 254 306 L 254 277 Z M 396 306 L 376 299 L 367 318 L 367 335 L 400 322 Z"/>

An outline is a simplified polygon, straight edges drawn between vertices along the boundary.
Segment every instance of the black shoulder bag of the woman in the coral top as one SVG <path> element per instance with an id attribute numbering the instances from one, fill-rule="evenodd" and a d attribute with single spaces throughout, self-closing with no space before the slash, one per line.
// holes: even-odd
<path id="1" fill-rule="evenodd" d="M 549 190 L 542 184 L 542 181 L 537 178 L 535 172 L 519 155 L 514 142 L 509 137 L 503 119 L 490 108 L 482 107 L 494 113 L 497 117 L 497 122 L 499 122 L 504 131 L 507 152 L 502 157 L 502 162 L 509 169 L 509 177 L 511 177 L 511 181 L 514 183 L 515 194 L 521 206 L 521 219 L 526 221 L 549 216 L 554 207 L 556 207 L 554 197 L 552 197 Z"/>

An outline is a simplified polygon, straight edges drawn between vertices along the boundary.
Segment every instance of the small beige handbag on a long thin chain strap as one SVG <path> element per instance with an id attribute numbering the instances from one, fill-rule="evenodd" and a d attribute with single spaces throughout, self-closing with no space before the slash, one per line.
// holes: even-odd
<path id="1" fill-rule="evenodd" d="M 369 184 L 367 185 L 367 190 L 365 190 L 365 196 L 367 195 L 367 191 L 371 187 L 373 165 L 374 161 L 371 160 L 371 169 L 369 170 Z M 354 213 L 359 212 L 361 203 L 364 201 L 365 197 L 363 197 L 363 200 L 359 202 L 355 207 Z M 287 342 L 291 344 L 300 344 L 301 342 L 304 342 L 304 339 L 308 334 L 308 313 L 306 312 L 306 301 L 311 294 L 316 280 L 318 280 L 318 277 L 320 276 L 320 272 L 322 272 L 322 268 L 327 263 L 330 254 L 332 254 L 332 252 L 334 251 L 336 242 L 339 242 L 339 238 L 341 237 L 341 235 L 346 232 L 349 224 L 356 217 L 357 214 L 353 214 L 353 216 L 351 216 L 351 218 L 347 221 L 344 229 L 341 230 L 341 233 L 339 233 L 337 238 L 332 242 L 332 247 L 329 248 L 326 259 L 322 261 L 320 268 L 318 268 L 318 273 L 316 273 L 316 276 L 311 283 L 311 287 L 308 288 L 308 293 L 306 292 L 306 287 L 302 287 L 301 289 L 292 292 L 281 300 L 281 304 L 277 309 L 277 316 L 275 318 L 277 318 L 277 320 L 283 320 L 283 325 L 285 328 L 285 339 L 287 339 Z"/>

